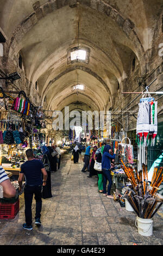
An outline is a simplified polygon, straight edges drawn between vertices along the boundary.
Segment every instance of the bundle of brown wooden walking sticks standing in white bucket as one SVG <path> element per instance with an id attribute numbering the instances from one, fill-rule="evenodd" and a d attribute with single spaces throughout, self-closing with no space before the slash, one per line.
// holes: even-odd
<path id="1" fill-rule="evenodd" d="M 163 182 L 163 167 L 159 170 L 158 167 L 155 167 L 152 181 L 148 181 L 147 165 L 142 164 L 142 170 L 138 172 L 135 169 L 134 172 L 133 168 L 128 168 L 122 159 L 121 162 L 123 164 L 122 168 L 131 183 L 130 187 L 124 188 L 122 198 L 127 198 L 138 217 L 143 219 L 153 218 L 163 204 L 163 197 L 156 194 Z"/>

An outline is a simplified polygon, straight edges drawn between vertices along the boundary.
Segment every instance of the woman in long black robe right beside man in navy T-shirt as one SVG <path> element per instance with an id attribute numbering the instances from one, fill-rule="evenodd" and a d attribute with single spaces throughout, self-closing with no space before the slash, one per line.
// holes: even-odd
<path id="1" fill-rule="evenodd" d="M 52 198 L 52 190 L 51 190 L 51 156 L 49 154 L 49 150 L 46 146 L 42 147 L 42 162 L 43 165 L 45 166 L 45 169 L 47 171 L 47 181 L 46 181 L 46 186 L 42 186 L 42 198 Z"/>

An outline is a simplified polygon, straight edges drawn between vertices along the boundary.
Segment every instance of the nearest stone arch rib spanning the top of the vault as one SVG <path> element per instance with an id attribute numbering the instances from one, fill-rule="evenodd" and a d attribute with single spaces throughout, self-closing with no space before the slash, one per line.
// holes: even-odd
<path id="1" fill-rule="evenodd" d="M 134 41 L 139 58 L 143 55 L 145 51 L 134 29 L 135 24 L 129 18 L 124 18 L 123 15 L 120 14 L 120 12 L 118 12 L 115 8 L 111 7 L 111 5 L 101 0 L 49 0 L 49 2 L 42 5 L 40 5 L 39 1 L 37 1 L 33 5 L 34 13 L 27 16 L 21 22 L 21 24 L 14 29 L 9 42 L 8 52 L 10 52 L 10 55 L 12 56 L 14 54 L 15 46 L 23 38 L 24 34 L 35 26 L 40 19 L 43 19 L 43 17 L 49 13 L 52 13 L 52 11 L 64 8 L 66 5 L 74 4 L 74 7 L 76 7 L 78 3 L 86 5 L 93 10 L 97 10 L 100 13 L 109 16 L 121 29 L 123 29 L 123 32 L 127 35 L 127 37 Z"/>

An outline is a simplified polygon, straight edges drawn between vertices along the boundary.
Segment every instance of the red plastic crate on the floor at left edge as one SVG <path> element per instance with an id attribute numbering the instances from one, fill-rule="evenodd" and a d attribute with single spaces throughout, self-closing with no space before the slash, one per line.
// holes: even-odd
<path id="1" fill-rule="evenodd" d="M 0 203 L 0 219 L 14 219 L 19 211 L 19 199 L 13 203 Z"/>

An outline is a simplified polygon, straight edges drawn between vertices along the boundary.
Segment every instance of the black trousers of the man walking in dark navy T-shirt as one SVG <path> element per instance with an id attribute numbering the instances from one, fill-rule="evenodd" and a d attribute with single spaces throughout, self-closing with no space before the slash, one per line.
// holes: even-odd
<path id="1" fill-rule="evenodd" d="M 41 189 L 42 186 L 26 186 L 24 188 L 24 200 L 25 200 L 25 216 L 26 216 L 26 224 L 32 225 L 32 201 L 33 195 L 35 195 L 36 200 L 36 213 L 35 219 L 41 217 L 41 208 L 42 208 L 42 200 L 41 200 Z"/>

